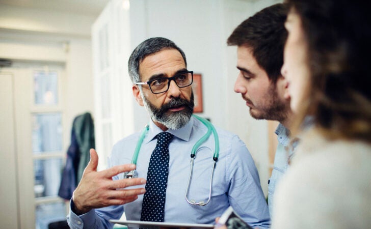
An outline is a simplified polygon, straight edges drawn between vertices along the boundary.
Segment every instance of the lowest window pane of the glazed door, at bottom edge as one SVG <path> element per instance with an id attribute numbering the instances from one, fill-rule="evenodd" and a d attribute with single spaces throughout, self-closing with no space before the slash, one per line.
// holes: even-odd
<path id="1" fill-rule="evenodd" d="M 48 229 L 51 222 L 66 220 L 64 203 L 40 204 L 36 206 L 36 229 Z"/>

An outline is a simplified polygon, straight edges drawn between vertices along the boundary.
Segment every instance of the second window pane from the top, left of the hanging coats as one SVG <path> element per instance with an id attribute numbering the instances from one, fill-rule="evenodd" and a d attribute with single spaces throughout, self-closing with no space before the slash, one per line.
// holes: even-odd
<path id="1" fill-rule="evenodd" d="M 62 150 L 62 114 L 37 113 L 32 117 L 32 147 L 34 154 Z"/>

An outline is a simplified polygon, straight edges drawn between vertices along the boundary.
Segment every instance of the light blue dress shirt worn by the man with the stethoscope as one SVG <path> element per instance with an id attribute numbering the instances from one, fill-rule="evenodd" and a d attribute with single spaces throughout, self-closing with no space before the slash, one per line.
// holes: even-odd
<path id="1" fill-rule="evenodd" d="M 137 161 L 138 176 L 147 177 L 149 159 L 156 146 L 155 136 L 162 132 L 152 121 L 144 138 Z M 217 128 L 220 141 L 219 159 L 216 164 L 211 201 L 205 206 L 192 206 L 185 194 L 190 173 L 191 150 L 206 133 L 207 127 L 195 118 L 178 130 L 168 130 L 174 135 L 169 145 L 169 177 L 166 189 L 165 222 L 215 223 L 229 207 L 253 227 L 268 228 L 270 217 L 267 203 L 260 187 L 254 161 L 242 140 Z M 140 133 L 120 140 L 113 148 L 109 167 L 130 163 Z M 189 199 L 206 202 L 213 166 L 215 141 L 211 135 L 196 153 Z M 121 178 L 121 175 L 114 179 Z M 145 185 L 138 186 L 145 187 Z M 119 219 L 125 211 L 127 220 L 140 220 L 143 195 L 131 203 L 93 209 L 81 216 L 71 210 L 67 217 L 72 228 L 110 228 L 109 219 Z M 71 205 L 73 202 L 71 201 Z"/>

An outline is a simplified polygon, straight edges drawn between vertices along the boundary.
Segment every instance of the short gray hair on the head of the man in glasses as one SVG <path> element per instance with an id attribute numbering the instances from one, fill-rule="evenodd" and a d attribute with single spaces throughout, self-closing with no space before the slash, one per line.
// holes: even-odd
<path id="1" fill-rule="evenodd" d="M 129 76 L 131 82 L 140 82 L 141 77 L 139 75 L 139 64 L 143 59 L 153 53 L 159 52 L 163 49 L 176 49 L 180 52 L 183 57 L 184 63 L 187 67 L 186 54 L 176 44 L 163 37 L 149 38 L 139 44 L 134 51 L 131 53 L 129 62 L 127 64 Z M 141 87 L 140 87 L 141 88 Z"/>

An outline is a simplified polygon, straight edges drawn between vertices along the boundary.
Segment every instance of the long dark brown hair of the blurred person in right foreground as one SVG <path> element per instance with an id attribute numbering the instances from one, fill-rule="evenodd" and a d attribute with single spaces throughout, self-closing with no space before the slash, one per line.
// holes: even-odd
<path id="1" fill-rule="evenodd" d="M 363 0 L 286 0 L 308 43 L 310 113 L 329 138 L 371 142 L 371 14 Z"/>

